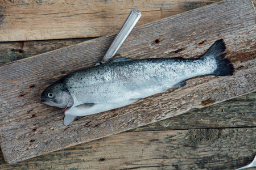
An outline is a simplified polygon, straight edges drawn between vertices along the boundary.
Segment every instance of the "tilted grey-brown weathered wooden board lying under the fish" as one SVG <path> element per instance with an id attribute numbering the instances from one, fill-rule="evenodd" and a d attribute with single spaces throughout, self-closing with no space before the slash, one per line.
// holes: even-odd
<path id="1" fill-rule="evenodd" d="M 236 73 L 190 79 L 185 87 L 80 117 L 68 128 L 62 125 L 63 112 L 41 104 L 40 94 L 61 76 L 93 66 L 104 56 L 113 35 L 3 65 L 0 140 L 6 161 L 18 162 L 255 91 L 255 29 L 249 0 L 224 1 L 135 28 L 117 56 L 191 58 L 223 38 Z"/>

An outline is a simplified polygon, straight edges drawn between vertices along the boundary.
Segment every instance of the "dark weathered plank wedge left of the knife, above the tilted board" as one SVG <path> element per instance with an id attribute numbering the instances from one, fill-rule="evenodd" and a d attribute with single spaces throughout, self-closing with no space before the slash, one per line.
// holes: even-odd
<path id="1" fill-rule="evenodd" d="M 75 45 L 85 39 L 42 40 L 42 41 L 18 41 L 0 43 L 0 66 L 19 59 L 46 53 L 52 50 Z"/>

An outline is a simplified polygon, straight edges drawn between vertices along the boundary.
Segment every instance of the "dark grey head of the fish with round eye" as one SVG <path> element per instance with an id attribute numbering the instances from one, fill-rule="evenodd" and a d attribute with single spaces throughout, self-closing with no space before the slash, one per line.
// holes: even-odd
<path id="1" fill-rule="evenodd" d="M 73 97 L 63 83 L 54 83 L 47 87 L 41 98 L 42 103 L 59 108 L 71 107 L 74 103 Z"/>

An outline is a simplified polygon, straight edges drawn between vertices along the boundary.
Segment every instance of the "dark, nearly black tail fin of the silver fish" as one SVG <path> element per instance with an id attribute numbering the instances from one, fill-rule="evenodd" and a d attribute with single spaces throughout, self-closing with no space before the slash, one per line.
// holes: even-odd
<path id="1" fill-rule="evenodd" d="M 229 59 L 225 58 L 226 45 L 223 39 L 217 40 L 201 58 L 214 58 L 217 62 L 217 68 L 213 71 L 213 75 L 232 75 L 234 73 L 233 64 Z"/>

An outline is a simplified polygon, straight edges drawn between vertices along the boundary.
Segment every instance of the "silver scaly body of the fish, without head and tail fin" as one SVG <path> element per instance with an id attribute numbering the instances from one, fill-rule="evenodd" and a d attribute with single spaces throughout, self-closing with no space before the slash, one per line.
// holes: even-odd
<path id="1" fill-rule="evenodd" d="M 94 105 L 86 109 L 77 107 L 76 112 L 68 109 L 66 114 L 85 116 L 129 105 L 164 92 L 193 76 L 213 73 L 214 67 L 208 67 L 210 62 L 214 61 L 134 59 L 78 71 L 67 76 L 63 83 L 76 106 L 86 103 Z"/>

